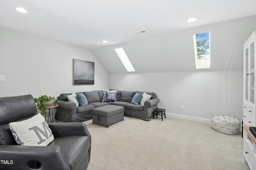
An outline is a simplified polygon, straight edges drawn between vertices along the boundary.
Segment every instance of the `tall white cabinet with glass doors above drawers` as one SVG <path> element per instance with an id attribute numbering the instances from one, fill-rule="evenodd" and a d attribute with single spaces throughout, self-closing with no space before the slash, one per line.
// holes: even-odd
<path id="1" fill-rule="evenodd" d="M 256 125 L 255 119 L 255 71 L 256 31 L 244 43 L 244 125 Z"/>

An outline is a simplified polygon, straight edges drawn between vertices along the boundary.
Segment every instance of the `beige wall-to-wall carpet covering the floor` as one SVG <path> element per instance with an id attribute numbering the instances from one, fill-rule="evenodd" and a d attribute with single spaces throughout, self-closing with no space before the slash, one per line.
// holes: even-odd
<path id="1" fill-rule="evenodd" d="M 86 121 L 92 135 L 88 170 L 248 170 L 241 134 L 226 135 L 167 117 L 124 117 L 108 128 Z"/>

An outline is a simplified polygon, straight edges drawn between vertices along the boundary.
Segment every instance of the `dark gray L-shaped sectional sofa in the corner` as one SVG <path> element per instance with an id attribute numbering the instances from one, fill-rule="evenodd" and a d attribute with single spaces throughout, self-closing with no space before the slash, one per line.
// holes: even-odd
<path id="1" fill-rule="evenodd" d="M 62 93 L 57 98 L 58 120 L 62 122 L 82 122 L 92 119 L 92 109 L 96 107 L 106 106 L 109 104 L 124 107 L 124 116 L 134 117 L 150 121 L 154 114 L 154 109 L 157 108 L 159 99 L 153 92 L 146 92 L 150 95 L 150 100 L 144 103 L 144 106 L 138 104 L 131 104 L 133 96 L 138 93 L 144 92 L 128 92 L 128 91 L 116 91 L 116 102 L 102 102 L 103 90 L 95 90 L 92 92 L 78 92 L 83 93 L 88 100 L 88 105 L 76 107 L 75 103 L 68 102 L 68 95 L 71 93 Z"/>

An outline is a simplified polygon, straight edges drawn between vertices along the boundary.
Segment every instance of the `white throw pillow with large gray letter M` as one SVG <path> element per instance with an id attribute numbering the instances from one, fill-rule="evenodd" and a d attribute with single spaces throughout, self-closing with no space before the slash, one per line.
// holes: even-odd
<path id="1" fill-rule="evenodd" d="M 41 114 L 11 122 L 9 126 L 18 145 L 47 146 L 54 140 L 52 131 Z"/>

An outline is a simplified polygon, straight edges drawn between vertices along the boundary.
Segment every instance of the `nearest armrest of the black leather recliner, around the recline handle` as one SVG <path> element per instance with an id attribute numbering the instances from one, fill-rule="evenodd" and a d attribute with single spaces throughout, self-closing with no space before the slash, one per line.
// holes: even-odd
<path id="1" fill-rule="evenodd" d="M 4 170 L 28 170 L 30 160 L 41 163 L 40 169 L 45 170 L 70 170 L 68 162 L 60 151 L 60 147 L 39 147 L 20 145 L 0 145 L 1 161 L 0 169 Z"/>

